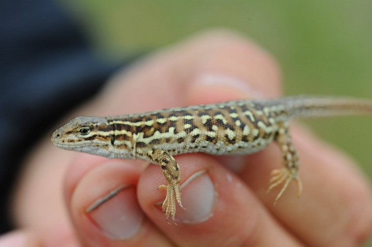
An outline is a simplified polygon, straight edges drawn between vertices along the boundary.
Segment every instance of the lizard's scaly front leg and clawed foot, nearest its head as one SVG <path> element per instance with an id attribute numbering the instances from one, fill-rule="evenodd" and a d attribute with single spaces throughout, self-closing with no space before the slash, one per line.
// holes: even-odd
<path id="1" fill-rule="evenodd" d="M 159 189 L 167 190 L 167 196 L 161 208 L 166 215 L 167 221 L 171 215 L 173 222 L 176 215 L 176 200 L 183 208 L 181 203 L 181 195 L 179 192 L 179 183 L 181 181 L 181 171 L 176 160 L 164 150 L 152 149 L 147 152 L 147 157 L 151 162 L 159 164 L 164 176 L 168 181 L 168 185 L 160 185 Z M 184 208 L 183 208 L 184 209 Z"/>

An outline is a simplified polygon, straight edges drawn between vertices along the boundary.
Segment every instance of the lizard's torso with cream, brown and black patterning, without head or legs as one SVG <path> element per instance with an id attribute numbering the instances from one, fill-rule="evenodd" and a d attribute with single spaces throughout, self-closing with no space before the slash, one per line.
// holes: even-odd
<path id="1" fill-rule="evenodd" d="M 150 149 L 161 149 L 170 155 L 257 152 L 272 142 L 278 116 L 287 116 L 284 106 L 229 101 L 106 119 L 112 126 L 113 145 L 143 159 Z"/>

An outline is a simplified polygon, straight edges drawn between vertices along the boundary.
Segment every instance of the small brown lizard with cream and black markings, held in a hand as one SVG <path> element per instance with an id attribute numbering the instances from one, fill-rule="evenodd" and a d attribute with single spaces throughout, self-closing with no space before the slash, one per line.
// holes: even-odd
<path id="1" fill-rule="evenodd" d="M 292 181 L 297 196 L 302 183 L 299 159 L 289 132 L 294 117 L 371 114 L 372 100 L 333 96 L 287 96 L 273 99 L 231 100 L 213 104 L 162 109 L 109 117 L 78 116 L 56 129 L 51 141 L 59 148 L 108 158 L 142 159 L 159 164 L 168 185 L 162 210 L 175 221 L 176 201 L 181 208 L 181 172 L 173 157 L 204 152 L 245 155 L 275 141 L 282 168 L 271 172 L 268 191 L 283 184 L 276 203 Z"/>

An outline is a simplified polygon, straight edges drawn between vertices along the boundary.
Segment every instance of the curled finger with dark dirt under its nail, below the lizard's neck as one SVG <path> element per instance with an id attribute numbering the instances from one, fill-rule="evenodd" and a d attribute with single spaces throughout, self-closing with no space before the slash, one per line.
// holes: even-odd
<path id="1" fill-rule="evenodd" d="M 89 246 L 170 245 L 137 203 L 139 166 L 85 156 L 68 169 L 65 182 L 67 208 L 81 243 Z"/>

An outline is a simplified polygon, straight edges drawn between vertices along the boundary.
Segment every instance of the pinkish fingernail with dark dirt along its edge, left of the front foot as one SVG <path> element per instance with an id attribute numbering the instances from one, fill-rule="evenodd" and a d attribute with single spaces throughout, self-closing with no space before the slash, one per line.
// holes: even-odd
<path id="1" fill-rule="evenodd" d="M 86 211 L 91 221 L 111 239 L 131 238 L 142 225 L 143 212 L 136 200 L 134 186 L 113 189 Z"/>

